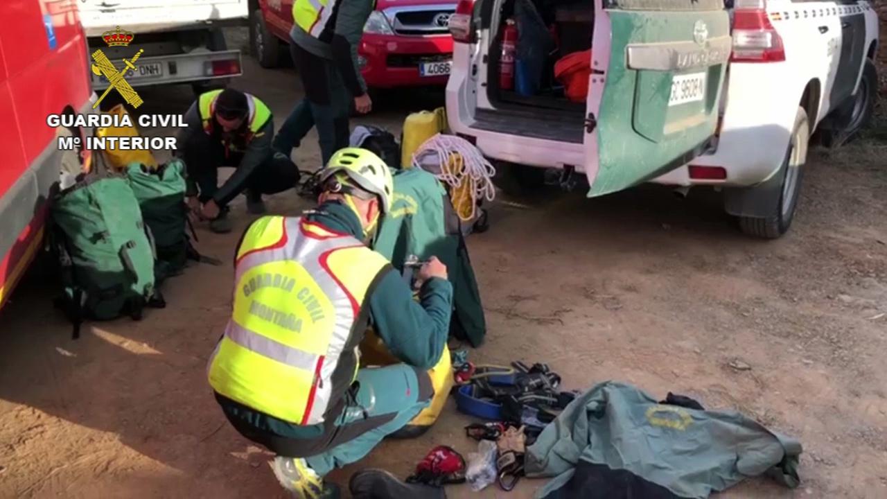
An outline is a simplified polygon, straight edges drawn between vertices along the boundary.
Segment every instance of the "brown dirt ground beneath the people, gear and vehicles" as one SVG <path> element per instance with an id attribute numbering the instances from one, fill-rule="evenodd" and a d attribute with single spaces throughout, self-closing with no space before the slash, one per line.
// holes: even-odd
<path id="1" fill-rule="evenodd" d="M 277 123 L 299 98 L 291 68 L 247 59 L 235 85 Z M 147 91 L 149 112 L 184 111 L 189 89 Z M 440 94 L 398 92 L 354 123 L 399 133 Z M 165 134 L 164 131 L 151 131 Z M 802 441 L 801 487 L 748 479 L 723 497 L 887 496 L 887 141 L 812 151 L 797 218 L 775 242 L 744 237 L 714 193 L 679 200 L 645 186 L 587 200 L 558 192 L 506 199 L 491 230 L 469 236 L 489 326 L 477 362 L 546 361 L 567 388 L 605 380 L 656 397 L 679 392 L 735 408 Z M 315 136 L 296 153 L 318 164 Z M 235 231 L 199 229 L 200 249 L 231 257 Z M 279 194 L 271 211 L 308 205 Z M 32 269 L 0 313 L 0 497 L 284 497 L 270 455 L 224 420 L 206 362 L 228 318 L 230 267 L 196 265 L 166 285 L 145 320 L 92 323 L 79 341 Z M 742 369 L 730 367 L 740 366 Z M 382 467 L 404 477 L 428 449 L 475 448 L 452 404 L 418 440 L 384 442 L 335 471 Z M 530 497 L 517 490 L 450 497 Z"/>

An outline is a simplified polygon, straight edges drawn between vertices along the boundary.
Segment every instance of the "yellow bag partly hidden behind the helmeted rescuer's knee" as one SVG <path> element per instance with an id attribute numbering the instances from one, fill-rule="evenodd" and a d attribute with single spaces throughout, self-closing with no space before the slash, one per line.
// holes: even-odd
<path id="1" fill-rule="evenodd" d="M 389 352 L 388 347 L 385 346 L 385 343 L 382 342 L 373 329 L 366 332 L 364 341 L 360 344 L 361 367 L 388 366 L 399 361 Z M 431 378 L 431 384 L 435 388 L 435 396 L 431 399 L 431 405 L 422 409 L 410 423 L 406 424 L 400 432 L 396 432 L 393 436 L 400 438 L 418 437 L 437 421 L 437 417 L 440 416 L 443 406 L 446 404 L 447 397 L 450 396 L 450 390 L 453 385 L 450 347 L 443 346 L 440 360 L 437 361 L 435 367 L 428 369 L 428 377 Z"/>

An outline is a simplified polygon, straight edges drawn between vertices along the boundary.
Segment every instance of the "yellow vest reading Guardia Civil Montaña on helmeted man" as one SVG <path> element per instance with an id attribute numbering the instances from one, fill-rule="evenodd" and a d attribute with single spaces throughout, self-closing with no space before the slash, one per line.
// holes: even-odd
<path id="1" fill-rule="evenodd" d="M 365 298 L 388 265 L 348 234 L 302 218 L 259 218 L 238 248 L 233 313 L 209 360 L 209 384 L 289 423 L 323 423 L 357 376 Z"/>

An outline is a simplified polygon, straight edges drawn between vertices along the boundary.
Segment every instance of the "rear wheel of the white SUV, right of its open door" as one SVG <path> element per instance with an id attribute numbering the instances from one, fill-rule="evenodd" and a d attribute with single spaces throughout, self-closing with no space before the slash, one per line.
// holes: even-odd
<path id="1" fill-rule="evenodd" d="M 773 204 L 773 211 L 765 218 L 740 217 L 742 232 L 764 239 L 776 239 L 785 234 L 795 218 L 797 199 L 801 193 L 802 168 L 807 160 L 807 147 L 810 143 L 810 121 L 804 107 L 797 108 L 795 128 L 789 139 L 785 160 L 776 174 L 781 176 L 779 202 Z"/>

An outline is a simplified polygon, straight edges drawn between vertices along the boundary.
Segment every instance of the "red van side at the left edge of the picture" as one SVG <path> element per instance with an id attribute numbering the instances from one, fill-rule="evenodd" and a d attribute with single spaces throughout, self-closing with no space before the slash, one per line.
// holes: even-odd
<path id="1" fill-rule="evenodd" d="M 48 115 L 90 113 L 89 53 L 75 0 L 0 2 L 0 307 L 43 240 L 59 171 L 86 167 L 83 151 L 59 151 Z"/>

